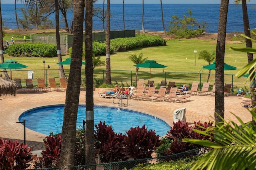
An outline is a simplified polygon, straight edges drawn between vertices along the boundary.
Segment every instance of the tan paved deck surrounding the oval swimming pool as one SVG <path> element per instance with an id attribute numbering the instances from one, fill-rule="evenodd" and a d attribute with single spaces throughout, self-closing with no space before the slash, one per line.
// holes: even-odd
<path id="1" fill-rule="evenodd" d="M 21 123 L 16 123 L 21 113 L 34 107 L 65 104 L 66 92 L 27 92 L 18 93 L 16 97 L 0 96 L 0 138 L 23 142 L 24 131 Z M 191 96 L 190 101 L 180 102 L 149 102 L 144 100 L 128 100 L 128 106 L 113 104 L 111 98 L 100 98 L 94 91 L 94 104 L 116 106 L 148 113 L 163 119 L 172 126 L 173 112 L 178 108 L 186 108 L 186 121 L 193 125 L 194 121 L 204 122 L 214 120 L 214 96 Z M 126 101 L 126 100 L 125 100 Z M 251 121 L 250 112 L 240 105 L 241 99 L 236 96 L 225 97 L 225 120 L 238 123 L 235 115 L 242 121 Z M 79 104 L 85 104 L 85 91 L 80 92 Z M 232 113 L 235 115 L 233 115 Z M 126 121 L 126 120 L 124 120 Z M 46 136 L 26 128 L 26 144 L 34 150 L 40 150 Z"/>

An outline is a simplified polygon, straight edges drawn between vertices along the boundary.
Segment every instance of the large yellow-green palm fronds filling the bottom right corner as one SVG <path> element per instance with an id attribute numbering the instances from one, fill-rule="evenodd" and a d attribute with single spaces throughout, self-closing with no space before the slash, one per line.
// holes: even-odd
<path id="1" fill-rule="evenodd" d="M 252 114 L 252 118 L 256 120 L 256 113 L 254 111 L 250 111 L 250 113 Z M 241 125 L 234 123 L 234 121 L 227 122 L 220 116 L 222 122 L 216 122 L 215 127 L 205 128 L 205 131 L 194 129 L 197 133 L 211 136 L 215 143 L 196 139 L 182 140 L 184 142 L 212 148 L 192 170 L 255 169 L 256 139 L 254 134 L 256 133 L 256 125 L 252 122 L 244 123 L 238 116 L 234 116 Z"/>

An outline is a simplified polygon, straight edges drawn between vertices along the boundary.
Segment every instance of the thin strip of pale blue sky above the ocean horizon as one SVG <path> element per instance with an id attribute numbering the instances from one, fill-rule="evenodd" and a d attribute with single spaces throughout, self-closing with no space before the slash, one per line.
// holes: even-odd
<path id="1" fill-rule="evenodd" d="M 102 4 L 103 0 L 97 3 Z M 122 4 L 122 0 L 110 0 L 112 4 Z M 105 0 L 106 3 L 106 0 Z M 125 0 L 125 4 L 142 4 L 142 0 Z M 144 4 L 159 4 L 159 0 L 144 0 Z M 220 4 L 220 0 L 162 0 L 163 4 Z M 232 4 L 233 0 L 229 0 Z M 14 4 L 14 0 L 1 0 L 1 4 Z M 248 4 L 256 4 L 256 0 L 250 0 Z"/>

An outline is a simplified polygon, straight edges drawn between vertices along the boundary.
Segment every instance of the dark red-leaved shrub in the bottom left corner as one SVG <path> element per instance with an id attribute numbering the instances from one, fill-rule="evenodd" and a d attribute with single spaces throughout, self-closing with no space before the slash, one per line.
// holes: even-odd
<path id="1" fill-rule="evenodd" d="M 0 139 L 0 170 L 28 168 L 32 151 L 24 143 Z"/>

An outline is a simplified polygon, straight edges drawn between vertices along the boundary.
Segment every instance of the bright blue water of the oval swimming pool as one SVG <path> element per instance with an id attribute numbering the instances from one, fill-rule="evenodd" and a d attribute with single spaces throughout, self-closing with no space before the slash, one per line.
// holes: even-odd
<path id="1" fill-rule="evenodd" d="M 82 129 L 85 120 L 86 107 L 80 105 L 77 115 L 77 129 Z M 52 105 L 37 107 L 25 111 L 20 115 L 19 121 L 26 120 L 26 127 L 45 135 L 51 132 L 56 134 L 62 131 L 64 105 Z M 94 106 L 94 124 L 105 121 L 106 125 L 112 125 L 115 133 L 126 134 L 131 127 L 142 127 L 146 125 L 148 130 L 152 129 L 159 136 L 164 136 L 170 130 L 170 126 L 156 117 L 131 111 L 128 109 Z M 94 127 L 95 129 L 95 127 Z"/>

